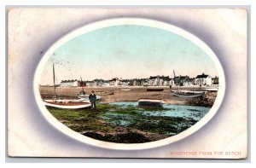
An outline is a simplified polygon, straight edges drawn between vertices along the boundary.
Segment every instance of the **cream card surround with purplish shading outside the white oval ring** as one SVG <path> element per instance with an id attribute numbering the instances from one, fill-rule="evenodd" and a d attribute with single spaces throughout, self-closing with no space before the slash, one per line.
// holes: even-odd
<path id="1" fill-rule="evenodd" d="M 140 17 L 170 23 L 207 43 L 226 76 L 224 101 L 214 118 L 193 135 L 147 150 L 96 148 L 56 130 L 33 95 L 34 71 L 44 52 L 67 32 L 97 20 Z M 9 9 L 8 154 L 42 157 L 193 158 L 172 152 L 241 152 L 247 155 L 247 11 L 245 9 Z"/>

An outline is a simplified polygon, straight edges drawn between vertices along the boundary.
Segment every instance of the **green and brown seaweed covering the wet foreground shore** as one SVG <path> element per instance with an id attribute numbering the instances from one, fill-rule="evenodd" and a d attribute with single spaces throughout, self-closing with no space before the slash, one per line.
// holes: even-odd
<path id="1" fill-rule="evenodd" d="M 108 142 L 151 142 L 166 136 L 174 136 L 196 123 L 193 119 L 143 114 L 145 111 L 154 113 L 166 110 L 158 107 L 106 103 L 97 104 L 96 109 L 47 108 L 49 113 L 70 129 L 84 136 Z M 153 136 L 148 136 L 148 133 Z"/>

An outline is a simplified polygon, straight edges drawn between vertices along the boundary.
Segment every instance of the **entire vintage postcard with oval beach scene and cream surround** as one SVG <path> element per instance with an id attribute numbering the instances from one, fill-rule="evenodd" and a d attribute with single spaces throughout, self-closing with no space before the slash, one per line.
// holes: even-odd
<path id="1" fill-rule="evenodd" d="M 247 9 L 8 16 L 10 157 L 247 158 Z"/>

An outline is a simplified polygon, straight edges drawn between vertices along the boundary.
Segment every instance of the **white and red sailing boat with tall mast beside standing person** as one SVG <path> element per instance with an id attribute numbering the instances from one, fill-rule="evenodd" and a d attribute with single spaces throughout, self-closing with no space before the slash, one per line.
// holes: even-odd
<path id="1" fill-rule="evenodd" d="M 90 107 L 90 101 L 84 99 L 68 100 L 68 99 L 56 99 L 56 84 L 55 84 L 55 65 L 53 64 L 53 79 L 54 79 L 54 96 L 52 100 L 44 100 L 44 105 L 48 107 L 77 109 Z"/>

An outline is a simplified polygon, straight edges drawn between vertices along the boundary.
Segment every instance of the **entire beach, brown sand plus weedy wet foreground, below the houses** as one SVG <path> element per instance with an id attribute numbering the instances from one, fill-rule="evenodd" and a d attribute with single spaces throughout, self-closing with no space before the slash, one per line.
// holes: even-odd
<path id="1" fill-rule="evenodd" d="M 187 89 L 183 87 L 183 90 Z M 42 99 L 53 97 L 53 87 L 40 87 L 39 90 Z M 57 88 L 56 98 L 78 99 L 81 90 L 82 88 Z M 84 136 L 118 143 L 153 142 L 175 136 L 202 119 L 217 96 L 217 92 L 207 92 L 201 97 L 178 97 L 172 95 L 169 87 L 84 87 L 86 95 L 92 90 L 102 97 L 96 110 L 47 109 L 63 125 Z M 160 108 L 139 107 L 137 101 L 141 98 L 160 99 L 165 104 Z"/>

